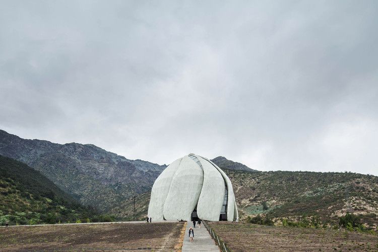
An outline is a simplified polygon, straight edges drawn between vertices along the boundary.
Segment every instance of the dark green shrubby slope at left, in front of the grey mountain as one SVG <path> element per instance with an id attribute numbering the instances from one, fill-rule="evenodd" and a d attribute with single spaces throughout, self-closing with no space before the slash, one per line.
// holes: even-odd
<path id="1" fill-rule="evenodd" d="M 83 207 L 39 171 L 0 156 L 0 223 L 41 224 L 93 218 Z"/>

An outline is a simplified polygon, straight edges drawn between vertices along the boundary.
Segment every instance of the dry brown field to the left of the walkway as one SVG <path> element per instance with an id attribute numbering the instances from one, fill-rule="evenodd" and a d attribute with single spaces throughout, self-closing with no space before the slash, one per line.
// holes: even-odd
<path id="1" fill-rule="evenodd" d="M 113 223 L 0 228 L 8 250 L 177 251 L 183 223 Z"/>

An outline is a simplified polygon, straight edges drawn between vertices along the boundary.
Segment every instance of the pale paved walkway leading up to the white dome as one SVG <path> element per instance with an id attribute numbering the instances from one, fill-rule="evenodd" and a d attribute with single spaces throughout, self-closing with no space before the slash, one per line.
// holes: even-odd
<path id="1" fill-rule="evenodd" d="M 194 239 L 191 243 L 189 239 L 189 228 L 193 227 L 193 222 L 187 222 L 184 236 L 184 243 L 182 244 L 182 252 L 184 251 L 218 251 L 219 248 L 215 244 L 214 240 L 210 236 L 204 224 L 201 225 L 201 228 L 194 229 Z"/>

